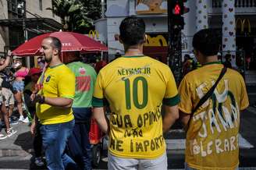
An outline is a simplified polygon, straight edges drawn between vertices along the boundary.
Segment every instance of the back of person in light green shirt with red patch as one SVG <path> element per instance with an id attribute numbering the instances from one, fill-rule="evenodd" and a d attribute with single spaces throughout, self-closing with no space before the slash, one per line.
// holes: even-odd
<path id="1" fill-rule="evenodd" d="M 90 65 L 83 62 L 72 62 L 67 65 L 76 76 L 76 94 L 73 108 L 90 108 L 96 72 Z"/>

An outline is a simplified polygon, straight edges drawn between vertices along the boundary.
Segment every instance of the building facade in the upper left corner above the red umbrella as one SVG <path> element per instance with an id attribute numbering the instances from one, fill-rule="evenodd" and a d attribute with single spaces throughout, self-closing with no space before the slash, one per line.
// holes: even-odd
<path id="1" fill-rule="evenodd" d="M 37 34 L 62 28 L 52 13 L 52 1 L 0 0 L 0 55 Z"/>

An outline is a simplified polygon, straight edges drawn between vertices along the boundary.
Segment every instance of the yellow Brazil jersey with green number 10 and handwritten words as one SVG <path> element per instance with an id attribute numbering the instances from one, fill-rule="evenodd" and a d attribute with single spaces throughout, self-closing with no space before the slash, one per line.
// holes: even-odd
<path id="1" fill-rule="evenodd" d="M 107 101 L 111 109 L 108 150 L 122 158 L 161 156 L 162 102 L 178 104 L 177 91 L 169 67 L 148 56 L 123 56 L 101 69 L 93 106 Z"/>

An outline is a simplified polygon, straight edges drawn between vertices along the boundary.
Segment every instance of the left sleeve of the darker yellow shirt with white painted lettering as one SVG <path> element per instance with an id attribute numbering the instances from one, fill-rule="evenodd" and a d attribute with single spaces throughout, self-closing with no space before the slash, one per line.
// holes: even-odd
<path id="1" fill-rule="evenodd" d="M 191 101 L 191 91 L 189 83 L 187 83 L 186 76 L 180 83 L 179 87 L 179 94 L 180 94 L 180 104 L 179 109 L 181 112 L 190 114 L 192 112 L 192 101 Z"/>

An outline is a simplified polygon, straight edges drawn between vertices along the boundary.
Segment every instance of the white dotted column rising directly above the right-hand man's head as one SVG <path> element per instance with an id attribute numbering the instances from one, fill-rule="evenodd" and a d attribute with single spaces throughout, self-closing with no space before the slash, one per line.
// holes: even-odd
<path id="1" fill-rule="evenodd" d="M 208 0 L 196 0 L 196 29 L 208 28 Z"/>

